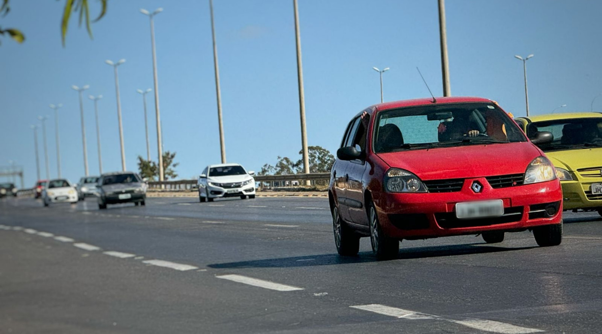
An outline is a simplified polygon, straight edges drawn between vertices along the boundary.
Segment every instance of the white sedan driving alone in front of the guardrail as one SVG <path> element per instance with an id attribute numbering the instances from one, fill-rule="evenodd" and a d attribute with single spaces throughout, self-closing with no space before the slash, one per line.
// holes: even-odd
<path id="1" fill-rule="evenodd" d="M 199 201 L 212 202 L 219 197 L 255 198 L 255 172 L 247 171 L 238 163 L 209 165 L 199 175 Z"/>

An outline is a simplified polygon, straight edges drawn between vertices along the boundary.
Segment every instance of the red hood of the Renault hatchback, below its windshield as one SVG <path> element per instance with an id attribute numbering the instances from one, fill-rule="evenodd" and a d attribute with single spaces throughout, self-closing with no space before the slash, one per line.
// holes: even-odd
<path id="1" fill-rule="evenodd" d="M 541 151 L 530 142 L 466 145 L 377 154 L 389 166 L 423 180 L 524 173 Z"/>

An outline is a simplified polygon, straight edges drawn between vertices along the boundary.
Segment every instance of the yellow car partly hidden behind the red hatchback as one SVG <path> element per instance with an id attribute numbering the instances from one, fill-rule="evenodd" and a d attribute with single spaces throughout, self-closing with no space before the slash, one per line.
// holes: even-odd
<path id="1" fill-rule="evenodd" d="M 556 167 L 564 209 L 598 211 L 602 216 L 602 113 L 536 115 L 516 121 L 529 138 L 538 132 L 553 135 L 551 142 L 537 145 Z"/>

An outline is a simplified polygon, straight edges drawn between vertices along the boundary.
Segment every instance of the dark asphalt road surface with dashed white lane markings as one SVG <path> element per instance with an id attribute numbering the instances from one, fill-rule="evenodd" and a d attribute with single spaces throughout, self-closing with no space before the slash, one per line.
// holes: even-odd
<path id="1" fill-rule="evenodd" d="M 602 333 L 602 217 L 336 254 L 326 198 L 0 199 L 0 333 Z"/>

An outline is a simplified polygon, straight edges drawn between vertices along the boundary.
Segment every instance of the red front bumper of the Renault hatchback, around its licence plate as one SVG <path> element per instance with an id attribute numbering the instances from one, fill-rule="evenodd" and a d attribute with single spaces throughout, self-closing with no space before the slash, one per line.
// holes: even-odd
<path id="1" fill-rule="evenodd" d="M 480 193 L 470 189 L 474 180 L 483 184 Z M 504 202 L 504 216 L 456 218 L 456 203 L 491 199 Z M 520 231 L 533 226 L 560 223 L 562 220 L 562 188 L 558 180 L 493 189 L 485 178 L 473 178 L 465 180 L 459 192 L 382 193 L 375 196 L 374 204 L 386 234 L 399 239 L 477 234 L 494 230 Z M 555 212 L 549 214 L 544 211 L 546 208 Z"/>

